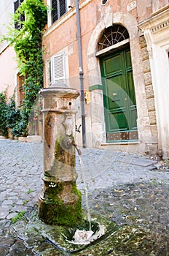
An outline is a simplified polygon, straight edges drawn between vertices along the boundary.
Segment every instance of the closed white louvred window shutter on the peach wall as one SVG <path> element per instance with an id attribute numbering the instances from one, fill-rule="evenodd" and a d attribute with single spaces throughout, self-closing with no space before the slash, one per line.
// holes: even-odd
<path id="1" fill-rule="evenodd" d="M 60 54 L 52 57 L 52 83 L 65 83 L 65 55 Z"/>

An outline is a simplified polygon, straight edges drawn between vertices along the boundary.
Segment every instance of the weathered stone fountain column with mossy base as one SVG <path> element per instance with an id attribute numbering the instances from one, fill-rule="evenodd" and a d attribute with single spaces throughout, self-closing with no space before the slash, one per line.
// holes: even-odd
<path id="1" fill-rule="evenodd" d="M 82 196 L 76 188 L 74 143 L 75 89 L 42 89 L 44 124 L 44 188 L 39 193 L 39 218 L 50 225 L 72 226 L 81 217 Z"/>

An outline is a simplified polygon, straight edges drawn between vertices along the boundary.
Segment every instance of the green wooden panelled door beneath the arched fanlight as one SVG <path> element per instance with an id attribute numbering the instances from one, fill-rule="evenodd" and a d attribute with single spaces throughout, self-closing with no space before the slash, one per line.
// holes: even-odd
<path id="1" fill-rule="evenodd" d="M 138 140 L 130 50 L 101 59 L 107 141 Z"/>

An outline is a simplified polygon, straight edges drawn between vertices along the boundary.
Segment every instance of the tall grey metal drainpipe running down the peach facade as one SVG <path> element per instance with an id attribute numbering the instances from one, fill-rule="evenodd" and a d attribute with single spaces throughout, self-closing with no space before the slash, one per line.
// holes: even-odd
<path id="1" fill-rule="evenodd" d="M 80 96 L 81 96 L 81 111 L 82 111 L 82 145 L 86 147 L 86 127 L 85 127 L 85 111 L 84 111 L 84 84 L 83 84 L 83 66 L 82 66 L 82 38 L 80 30 L 79 18 L 79 0 L 75 0 L 76 6 L 76 26 L 77 26 L 77 42 L 79 56 L 79 79 L 80 79 Z"/>

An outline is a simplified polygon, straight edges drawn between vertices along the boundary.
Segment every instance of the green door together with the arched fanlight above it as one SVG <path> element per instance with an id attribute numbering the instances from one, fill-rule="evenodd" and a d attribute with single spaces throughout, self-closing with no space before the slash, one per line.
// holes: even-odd
<path id="1" fill-rule="evenodd" d="M 107 142 L 138 140 L 137 110 L 127 29 L 113 25 L 98 42 Z M 109 51 L 109 53 L 108 53 Z"/>

